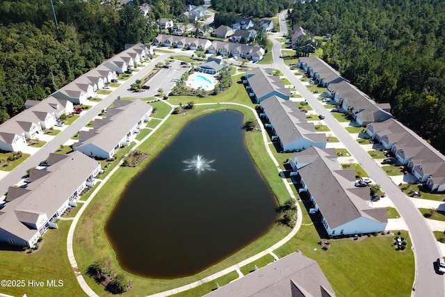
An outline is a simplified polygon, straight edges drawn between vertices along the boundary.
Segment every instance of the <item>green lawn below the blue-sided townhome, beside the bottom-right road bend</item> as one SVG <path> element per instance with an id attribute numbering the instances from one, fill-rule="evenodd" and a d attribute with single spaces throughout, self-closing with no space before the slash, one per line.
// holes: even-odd
<path id="1" fill-rule="evenodd" d="M 414 255 L 409 239 L 404 251 L 395 250 L 391 236 L 361 236 L 357 241 L 329 239 L 331 248 L 325 251 L 318 245 L 321 239 L 316 231 L 323 226 L 319 221 L 311 224 L 305 207 L 302 209 L 303 225 L 291 241 L 274 250 L 278 257 L 301 250 L 315 259 L 338 297 L 410 296 Z"/>

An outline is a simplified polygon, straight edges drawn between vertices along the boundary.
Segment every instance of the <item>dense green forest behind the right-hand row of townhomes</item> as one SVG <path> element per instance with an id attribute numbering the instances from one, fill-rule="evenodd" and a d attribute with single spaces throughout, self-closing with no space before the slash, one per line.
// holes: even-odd
<path id="1" fill-rule="evenodd" d="M 296 3 L 289 22 L 332 34 L 321 58 L 445 152 L 443 0 Z"/>

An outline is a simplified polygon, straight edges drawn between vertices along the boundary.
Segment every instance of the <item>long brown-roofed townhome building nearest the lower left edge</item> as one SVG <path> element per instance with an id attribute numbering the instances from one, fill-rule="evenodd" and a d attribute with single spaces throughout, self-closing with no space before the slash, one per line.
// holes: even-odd
<path id="1" fill-rule="evenodd" d="M 0 242 L 32 248 L 56 220 L 76 206 L 101 166 L 80 152 L 50 154 L 48 166 L 32 169 L 26 188 L 10 186 L 0 210 Z"/>

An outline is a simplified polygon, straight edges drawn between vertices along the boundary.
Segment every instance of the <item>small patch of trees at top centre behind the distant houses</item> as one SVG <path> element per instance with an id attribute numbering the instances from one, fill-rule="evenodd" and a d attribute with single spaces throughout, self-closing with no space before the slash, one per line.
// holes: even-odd
<path id="1" fill-rule="evenodd" d="M 211 0 L 213 9 L 221 13 L 238 13 L 245 17 L 275 17 L 289 7 L 289 0 Z"/>

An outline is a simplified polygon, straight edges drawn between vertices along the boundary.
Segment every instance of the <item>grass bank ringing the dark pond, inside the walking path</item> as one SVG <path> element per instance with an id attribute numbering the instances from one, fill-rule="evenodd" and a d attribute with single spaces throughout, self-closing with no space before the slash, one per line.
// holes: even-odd
<path id="1" fill-rule="evenodd" d="M 145 166 L 156 157 L 156 155 L 161 152 L 165 145 L 168 145 L 170 141 L 175 138 L 177 134 L 181 131 L 182 127 L 186 125 L 187 122 L 194 120 L 195 118 L 212 113 L 215 111 L 225 111 L 227 109 L 235 110 L 243 113 L 244 118 L 252 116 L 252 111 L 246 109 L 243 106 L 232 106 L 232 104 L 214 104 L 213 106 L 195 106 L 195 110 L 188 111 L 186 117 L 182 115 L 172 115 L 159 131 L 150 137 L 145 143 L 143 143 L 139 149 L 144 152 L 148 152 L 149 156 L 138 168 L 120 168 L 115 175 L 107 182 L 102 190 L 98 193 L 91 205 L 86 209 L 86 213 L 83 214 L 79 220 L 79 225 L 76 227 L 76 232 L 74 232 L 74 241 L 82 244 L 77 244 L 74 246 L 74 255 L 76 255 L 77 262 L 81 271 L 85 271 L 88 264 L 95 261 L 95 259 L 106 257 L 111 263 L 113 271 L 116 273 L 124 273 L 127 278 L 133 280 L 133 287 L 131 289 L 131 295 L 133 294 L 154 294 L 159 291 L 165 291 L 167 289 L 174 289 L 184 284 L 200 280 L 208 275 L 216 273 L 224 268 L 232 266 L 233 264 L 240 262 L 241 260 L 248 258 L 252 255 L 257 254 L 257 252 L 264 250 L 274 243 L 282 239 L 286 234 L 288 234 L 291 229 L 288 227 L 283 227 L 281 225 L 273 225 L 270 230 L 266 232 L 260 239 L 250 243 L 245 246 L 234 255 L 231 255 L 224 259 L 222 262 L 207 268 L 201 273 L 189 276 L 186 278 L 179 278 L 175 280 L 154 280 L 143 278 L 138 275 L 132 275 L 122 268 L 115 259 L 115 252 L 111 247 L 106 234 L 104 232 L 104 225 L 106 223 L 106 218 L 111 214 L 115 205 L 118 203 L 120 198 L 120 193 L 124 191 L 124 188 L 131 182 L 131 179 L 138 175 Z M 180 117 L 180 118 L 179 118 Z M 268 182 L 270 188 L 273 190 L 275 197 L 279 202 L 286 200 L 289 196 L 286 188 L 282 182 L 282 179 L 277 176 L 277 174 L 269 174 L 269 170 L 272 169 L 276 173 L 275 166 L 273 166 L 273 161 L 267 156 L 265 150 L 264 142 L 262 140 L 262 135 L 258 132 L 248 132 L 245 134 L 246 145 L 248 149 L 253 154 L 252 158 L 257 164 L 261 175 L 267 177 L 265 178 Z M 167 136 L 167 137 L 165 137 Z M 156 143 L 156 147 L 154 147 Z M 262 145 L 262 153 L 260 146 Z M 267 156 L 267 157 L 265 157 Z M 100 216 L 98 216 L 100 214 Z M 83 230 L 92 230 L 93 234 L 84 234 Z M 92 235 L 92 236 L 91 236 Z M 96 284 L 92 279 L 86 278 L 86 281 L 95 291 L 102 291 L 102 287 Z M 106 294 L 106 293 L 105 293 Z"/>

